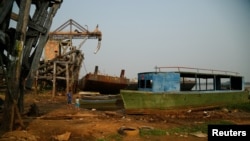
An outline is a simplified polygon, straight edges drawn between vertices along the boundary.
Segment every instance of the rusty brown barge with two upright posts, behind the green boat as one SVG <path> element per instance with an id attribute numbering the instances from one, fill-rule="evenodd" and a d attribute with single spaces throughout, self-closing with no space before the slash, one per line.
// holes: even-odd
<path id="1" fill-rule="evenodd" d="M 124 76 L 125 70 L 121 70 L 120 77 L 98 74 L 98 66 L 94 73 L 86 74 L 79 80 L 79 88 L 82 91 L 94 91 L 100 94 L 119 94 L 121 89 L 128 87 L 129 79 Z"/>

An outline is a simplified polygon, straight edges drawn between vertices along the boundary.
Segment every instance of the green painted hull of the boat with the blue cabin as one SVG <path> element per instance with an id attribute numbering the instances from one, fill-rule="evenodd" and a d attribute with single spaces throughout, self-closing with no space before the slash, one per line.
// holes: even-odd
<path id="1" fill-rule="evenodd" d="M 249 102 L 247 91 L 152 93 L 121 90 L 125 109 L 171 109 Z"/>

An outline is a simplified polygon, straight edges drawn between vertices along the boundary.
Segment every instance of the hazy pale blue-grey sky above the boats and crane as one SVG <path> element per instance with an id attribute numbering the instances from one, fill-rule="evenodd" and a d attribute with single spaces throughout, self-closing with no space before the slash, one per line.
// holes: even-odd
<path id="1" fill-rule="evenodd" d="M 64 0 L 51 30 L 69 19 L 90 31 L 98 24 L 103 34 L 97 54 L 97 40 L 82 46 L 81 77 L 96 65 L 116 76 L 125 69 L 128 78 L 182 66 L 239 72 L 250 81 L 249 0 Z"/>

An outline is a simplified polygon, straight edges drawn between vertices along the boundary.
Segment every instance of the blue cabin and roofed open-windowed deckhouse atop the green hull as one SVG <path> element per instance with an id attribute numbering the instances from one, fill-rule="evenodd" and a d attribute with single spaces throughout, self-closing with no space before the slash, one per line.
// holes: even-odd
<path id="1" fill-rule="evenodd" d="M 138 73 L 139 91 L 157 93 L 244 90 L 244 77 L 236 72 L 187 67 L 177 67 L 178 71 L 166 72 L 160 71 L 160 67 L 157 69 L 159 71 Z"/>

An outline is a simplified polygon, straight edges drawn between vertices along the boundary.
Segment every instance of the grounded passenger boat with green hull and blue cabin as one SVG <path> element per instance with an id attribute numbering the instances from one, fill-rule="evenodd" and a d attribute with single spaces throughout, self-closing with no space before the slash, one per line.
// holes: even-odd
<path id="1" fill-rule="evenodd" d="M 193 79 L 195 87 L 184 90 L 181 88 L 180 78 Z M 224 79 L 230 84 L 227 89 L 222 85 Z M 201 82 L 209 84 L 208 80 L 212 82 L 213 89 L 208 89 L 206 85 L 201 87 Z M 138 73 L 138 90 L 121 90 L 121 96 L 126 111 L 249 102 L 249 94 L 244 91 L 243 81 L 243 76 L 238 73 L 230 74 L 228 71 L 216 73 L 212 70 L 212 73 L 204 73 L 202 69 L 196 69 L 194 72 L 143 72 Z"/>

